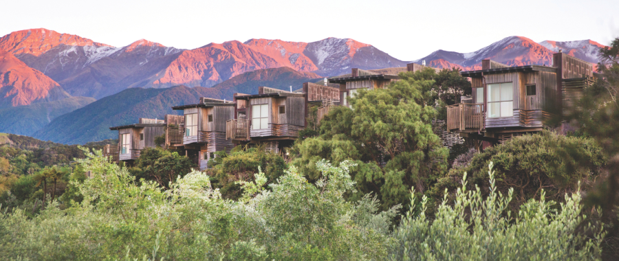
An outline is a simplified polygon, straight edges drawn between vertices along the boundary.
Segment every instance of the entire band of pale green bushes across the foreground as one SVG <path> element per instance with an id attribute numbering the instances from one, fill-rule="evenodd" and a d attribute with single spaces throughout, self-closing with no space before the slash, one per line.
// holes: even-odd
<path id="1" fill-rule="evenodd" d="M 294 166 L 276 182 L 261 171 L 239 182 L 239 201 L 221 198 L 204 172 L 193 171 L 162 188 L 135 181 L 126 168 L 100 152 L 80 160 L 94 177 L 74 185 L 81 203 L 59 209 L 56 201 L 29 218 L 23 208 L 0 214 L 3 260 L 595 260 L 599 227 L 585 227 L 580 194 L 560 209 L 529 201 L 512 218 L 512 192 L 457 192 L 433 220 L 413 207 L 391 226 L 399 205 L 379 212 L 375 196 L 357 202 L 349 161 L 318 161 L 321 179 L 309 183 Z M 490 177 L 493 177 L 490 173 Z M 419 213 L 417 213 L 417 212 Z"/>

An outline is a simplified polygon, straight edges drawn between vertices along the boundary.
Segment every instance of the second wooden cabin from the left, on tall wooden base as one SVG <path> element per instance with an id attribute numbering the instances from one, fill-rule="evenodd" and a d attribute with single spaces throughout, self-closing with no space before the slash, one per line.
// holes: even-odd
<path id="1" fill-rule="evenodd" d="M 173 106 L 173 110 L 183 111 L 184 122 L 169 128 L 171 146 L 184 149 L 201 170 L 208 168 L 207 162 L 215 157 L 214 152 L 234 147 L 226 139 L 226 122 L 234 119 L 235 105 L 226 100 L 200 98 L 197 104 Z"/>

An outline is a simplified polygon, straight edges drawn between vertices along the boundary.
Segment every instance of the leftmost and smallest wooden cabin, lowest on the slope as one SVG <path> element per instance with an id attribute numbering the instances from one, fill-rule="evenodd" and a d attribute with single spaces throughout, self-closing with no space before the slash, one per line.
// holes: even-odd
<path id="1" fill-rule="evenodd" d="M 120 161 L 132 161 L 140 157 L 144 148 L 155 147 L 155 137 L 164 135 L 165 120 L 140 118 L 138 124 L 109 128 L 118 131 L 118 148 L 106 146 L 104 154 Z M 116 157 L 118 155 L 118 157 Z"/>

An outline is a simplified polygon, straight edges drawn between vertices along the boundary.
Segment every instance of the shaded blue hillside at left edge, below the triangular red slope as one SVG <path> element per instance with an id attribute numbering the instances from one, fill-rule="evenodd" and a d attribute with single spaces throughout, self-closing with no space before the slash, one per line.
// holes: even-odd
<path id="1" fill-rule="evenodd" d="M 56 117 L 96 101 L 89 97 L 71 97 L 54 102 L 0 109 L 0 133 L 32 135 Z"/>

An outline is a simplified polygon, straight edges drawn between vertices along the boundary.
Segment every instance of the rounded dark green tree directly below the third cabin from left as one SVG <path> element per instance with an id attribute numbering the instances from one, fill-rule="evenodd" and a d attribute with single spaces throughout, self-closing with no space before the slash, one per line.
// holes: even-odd
<path id="1" fill-rule="evenodd" d="M 274 183 L 287 169 L 282 157 L 264 148 L 237 146 L 226 152 L 216 152 L 215 159 L 208 162 L 206 174 L 212 178 L 213 186 L 219 189 L 224 198 L 237 199 L 243 191 L 240 181 L 252 181 L 254 173 L 265 172 L 267 183 Z"/>

